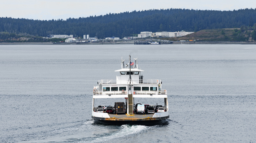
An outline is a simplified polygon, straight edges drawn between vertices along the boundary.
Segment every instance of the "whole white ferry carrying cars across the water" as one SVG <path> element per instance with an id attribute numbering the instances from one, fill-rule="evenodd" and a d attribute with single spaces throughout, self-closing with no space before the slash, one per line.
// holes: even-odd
<path id="1" fill-rule="evenodd" d="M 98 85 L 94 86 L 92 119 L 110 124 L 152 124 L 169 118 L 167 90 L 161 88 L 161 80 L 143 79 L 143 70 L 140 70 L 137 64 L 138 58 L 134 60 L 135 63 L 131 62 L 129 56 L 129 63 L 125 64 L 125 60 L 122 59 L 121 69 L 116 70 L 119 73 L 116 79 L 101 79 Z M 120 98 L 123 101 L 120 101 Z M 135 100 L 145 98 L 149 98 L 150 101 L 163 99 L 162 105 L 134 103 Z M 113 99 L 114 106 L 107 107 L 110 111 L 112 108 L 113 112 L 106 112 L 104 105 L 95 105 L 97 99 Z M 140 114 L 139 107 L 142 108 Z M 145 112 L 145 109 L 150 108 L 154 108 L 153 113 Z"/>

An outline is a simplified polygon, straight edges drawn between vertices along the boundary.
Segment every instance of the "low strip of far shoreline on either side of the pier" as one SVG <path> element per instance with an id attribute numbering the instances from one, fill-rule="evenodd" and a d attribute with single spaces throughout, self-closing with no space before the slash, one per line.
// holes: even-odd
<path id="1" fill-rule="evenodd" d="M 0 42 L 0 45 L 116 45 L 116 44 L 134 44 L 129 42 L 98 42 L 98 43 L 53 43 L 53 42 Z M 256 44 L 256 42 L 231 42 L 231 41 L 174 41 L 171 44 Z"/>

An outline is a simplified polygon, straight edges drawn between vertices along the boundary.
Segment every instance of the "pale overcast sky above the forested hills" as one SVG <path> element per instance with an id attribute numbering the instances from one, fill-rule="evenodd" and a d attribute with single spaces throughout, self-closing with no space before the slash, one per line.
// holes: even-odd
<path id="1" fill-rule="evenodd" d="M 234 10 L 256 8 L 256 0 L 0 0 L 0 17 L 52 20 L 134 10 L 185 8 Z"/>

